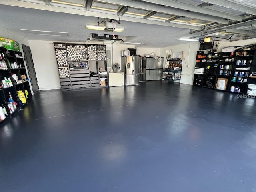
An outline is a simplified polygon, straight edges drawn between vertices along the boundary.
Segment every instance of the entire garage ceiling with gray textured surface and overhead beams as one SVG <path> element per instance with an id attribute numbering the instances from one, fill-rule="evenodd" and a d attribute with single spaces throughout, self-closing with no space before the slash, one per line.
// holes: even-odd
<path id="1" fill-rule="evenodd" d="M 126 42 L 147 47 L 181 44 L 178 38 L 256 37 L 256 0 L 0 0 L 0 4 L 2 26 L 30 40 L 85 42 L 90 33 L 104 33 L 87 30 L 86 24 L 110 19 L 120 20 L 117 25 L 125 31 L 116 34 Z M 20 29 L 65 32 L 68 37 Z"/>

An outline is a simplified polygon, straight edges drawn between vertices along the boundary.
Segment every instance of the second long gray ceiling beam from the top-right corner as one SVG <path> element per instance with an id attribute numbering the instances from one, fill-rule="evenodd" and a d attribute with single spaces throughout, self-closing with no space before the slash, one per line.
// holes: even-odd
<path id="1" fill-rule="evenodd" d="M 142 0 L 142 1 L 154 3 L 154 4 L 160 4 L 160 5 L 169 6 L 172 8 L 178 8 L 178 9 L 187 10 L 187 11 L 193 11 L 196 13 L 216 16 L 216 17 L 220 17 L 220 18 L 242 21 L 242 17 L 240 17 L 240 16 L 231 15 L 231 14 L 227 14 L 224 12 L 215 11 L 215 10 L 211 10 L 211 9 L 207 9 L 207 8 L 202 8 L 202 7 L 198 7 L 198 6 L 194 6 L 194 5 L 189 5 L 186 3 L 180 3 L 180 2 L 176 2 L 176 1 L 172 1 L 172 0 Z M 196 19 L 198 19 L 198 18 L 196 18 Z"/>

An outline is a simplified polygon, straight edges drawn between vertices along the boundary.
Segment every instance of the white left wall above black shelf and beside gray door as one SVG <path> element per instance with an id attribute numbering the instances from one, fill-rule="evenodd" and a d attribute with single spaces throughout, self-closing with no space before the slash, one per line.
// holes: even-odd
<path id="1" fill-rule="evenodd" d="M 26 34 L 24 34 L 24 36 L 18 35 L 18 34 L 12 32 L 10 30 L 6 30 L 2 26 L 0 26 L 0 37 L 10 38 L 14 41 L 19 42 L 20 43 L 20 51 L 22 52 L 23 56 L 24 56 L 24 53 L 23 53 L 23 50 L 22 50 L 22 44 L 24 44 L 26 46 L 30 46 L 29 41 L 26 38 Z M 28 68 L 27 68 L 25 60 L 24 60 L 24 64 L 25 64 L 25 68 L 26 68 L 26 73 L 27 73 L 28 78 L 29 78 Z M 29 83 L 29 86 L 30 86 L 31 94 L 34 95 L 34 92 L 32 90 L 32 86 L 31 86 L 31 82 L 29 81 L 28 83 Z"/>

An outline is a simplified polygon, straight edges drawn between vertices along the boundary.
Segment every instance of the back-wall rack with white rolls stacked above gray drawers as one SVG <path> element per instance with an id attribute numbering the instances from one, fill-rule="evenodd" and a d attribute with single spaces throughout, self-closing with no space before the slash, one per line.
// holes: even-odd
<path id="1" fill-rule="evenodd" d="M 107 79 L 105 45 L 54 43 L 54 48 L 62 90 L 100 87 L 100 78 Z"/>

